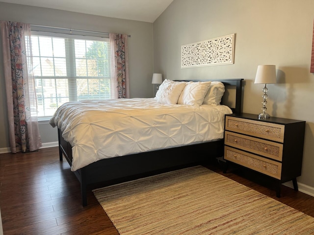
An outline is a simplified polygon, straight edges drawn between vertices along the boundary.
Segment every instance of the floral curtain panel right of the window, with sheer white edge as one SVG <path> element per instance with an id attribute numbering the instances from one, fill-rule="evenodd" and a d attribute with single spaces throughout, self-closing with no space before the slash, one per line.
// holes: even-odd
<path id="1" fill-rule="evenodd" d="M 113 97 L 130 98 L 128 35 L 109 33 L 109 39 Z"/>

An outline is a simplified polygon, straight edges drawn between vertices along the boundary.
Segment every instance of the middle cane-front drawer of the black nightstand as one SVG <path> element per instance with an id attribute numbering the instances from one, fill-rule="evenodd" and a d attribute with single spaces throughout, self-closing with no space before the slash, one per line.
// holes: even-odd
<path id="1" fill-rule="evenodd" d="M 277 161 L 282 161 L 283 144 L 265 141 L 233 132 L 225 132 L 225 144 L 259 154 Z"/>

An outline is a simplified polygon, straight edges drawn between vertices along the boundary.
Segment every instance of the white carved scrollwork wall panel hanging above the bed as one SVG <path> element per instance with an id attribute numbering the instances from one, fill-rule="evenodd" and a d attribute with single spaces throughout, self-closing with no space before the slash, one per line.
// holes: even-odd
<path id="1" fill-rule="evenodd" d="M 181 68 L 234 63 L 235 34 L 181 46 Z"/>

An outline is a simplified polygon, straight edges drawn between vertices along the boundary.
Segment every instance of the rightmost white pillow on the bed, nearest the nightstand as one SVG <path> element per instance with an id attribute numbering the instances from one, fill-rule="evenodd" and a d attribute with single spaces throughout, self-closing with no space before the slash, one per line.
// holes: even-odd
<path id="1" fill-rule="evenodd" d="M 221 102 L 221 98 L 225 93 L 225 86 L 222 82 L 214 81 L 211 82 L 209 90 L 205 95 L 203 104 L 211 106 L 217 106 Z"/>

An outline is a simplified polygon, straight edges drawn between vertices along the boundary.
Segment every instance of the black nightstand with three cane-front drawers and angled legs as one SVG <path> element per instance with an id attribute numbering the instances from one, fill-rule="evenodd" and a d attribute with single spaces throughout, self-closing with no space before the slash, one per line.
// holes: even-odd
<path id="1" fill-rule="evenodd" d="M 286 118 L 259 119 L 255 114 L 225 116 L 224 159 L 268 175 L 281 184 L 291 181 L 298 190 L 301 175 L 305 121 Z M 228 164 L 224 172 L 227 171 Z"/>

